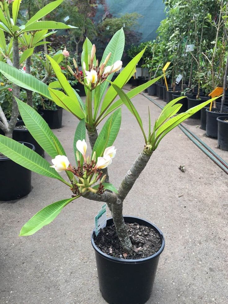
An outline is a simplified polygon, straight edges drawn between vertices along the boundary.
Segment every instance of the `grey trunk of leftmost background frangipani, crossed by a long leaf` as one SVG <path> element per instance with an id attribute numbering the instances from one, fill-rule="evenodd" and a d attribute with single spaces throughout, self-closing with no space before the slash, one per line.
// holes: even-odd
<path id="1" fill-rule="evenodd" d="M 13 38 L 13 66 L 19 69 L 19 47 L 18 47 L 18 38 Z M 20 98 L 20 87 L 13 83 L 13 99 L 12 99 L 12 113 L 9 123 L 8 132 L 5 133 L 7 137 L 12 138 L 13 129 L 17 122 L 18 117 L 18 106 L 15 100 L 15 97 Z"/>

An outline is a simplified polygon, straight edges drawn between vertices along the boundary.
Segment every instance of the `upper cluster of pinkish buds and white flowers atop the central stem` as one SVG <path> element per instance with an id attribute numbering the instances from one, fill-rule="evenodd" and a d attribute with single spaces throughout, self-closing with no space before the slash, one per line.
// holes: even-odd
<path id="1" fill-rule="evenodd" d="M 107 55 L 106 59 L 104 60 L 104 63 L 101 63 L 100 66 L 98 66 L 99 64 L 98 60 L 94 64 L 95 53 L 96 53 L 96 47 L 95 45 L 93 45 L 91 54 L 88 55 L 88 68 L 86 67 L 85 62 L 83 62 L 82 64 L 84 73 L 82 71 L 79 71 L 75 59 L 73 59 L 73 63 L 76 68 L 76 71 L 73 71 L 72 68 L 68 66 L 68 70 L 78 80 L 78 82 L 80 82 L 90 90 L 93 90 L 97 86 L 101 85 L 110 74 L 119 71 L 122 67 L 121 60 L 117 60 L 112 65 L 107 65 L 112 53 L 109 53 Z M 83 75 L 85 75 L 85 78 Z"/>

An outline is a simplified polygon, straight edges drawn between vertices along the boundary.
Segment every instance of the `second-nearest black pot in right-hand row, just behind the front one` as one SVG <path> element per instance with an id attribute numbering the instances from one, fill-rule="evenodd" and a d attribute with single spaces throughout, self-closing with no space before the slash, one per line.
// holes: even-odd
<path id="1" fill-rule="evenodd" d="M 218 122 L 217 117 L 228 116 L 228 109 L 225 108 L 223 113 L 220 113 L 220 108 L 212 108 L 212 111 L 206 109 L 207 122 L 206 122 L 206 135 L 208 137 L 217 138 L 218 137 Z M 215 112 L 218 111 L 218 112 Z"/>

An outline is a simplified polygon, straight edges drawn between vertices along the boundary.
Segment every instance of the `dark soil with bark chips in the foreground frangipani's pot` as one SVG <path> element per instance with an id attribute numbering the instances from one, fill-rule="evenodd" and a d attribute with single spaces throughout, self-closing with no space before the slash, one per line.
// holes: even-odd
<path id="1" fill-rule="evenodd" d="M 126 225 L 133 245 L 131 252 L 124 252 L 114 224 L 101 229 L 99 235 L 94 236 L 96 246 L 111 257 L 133 260 L 150 257 L 161 248 L 160 237 L 151 227 L 138 223 Z"/>

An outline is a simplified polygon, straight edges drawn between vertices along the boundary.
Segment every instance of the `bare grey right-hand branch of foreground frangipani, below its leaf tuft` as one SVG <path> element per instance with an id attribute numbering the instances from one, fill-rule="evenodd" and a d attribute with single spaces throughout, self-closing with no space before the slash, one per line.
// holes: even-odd
<path id="1" fill-rule="evenodd" d="M 152 151 L 147 153 L 144 149 L 136 158 L 131 168 L 128 170 L 118 190 L 118 198 L 121 201 L 123 201 L 125 197 L 128 195 L 136 179 L 139 177 L 140 173 L 146 167 L 147 162 L 149 161 L 151 155 L 152 155 Z"/>

